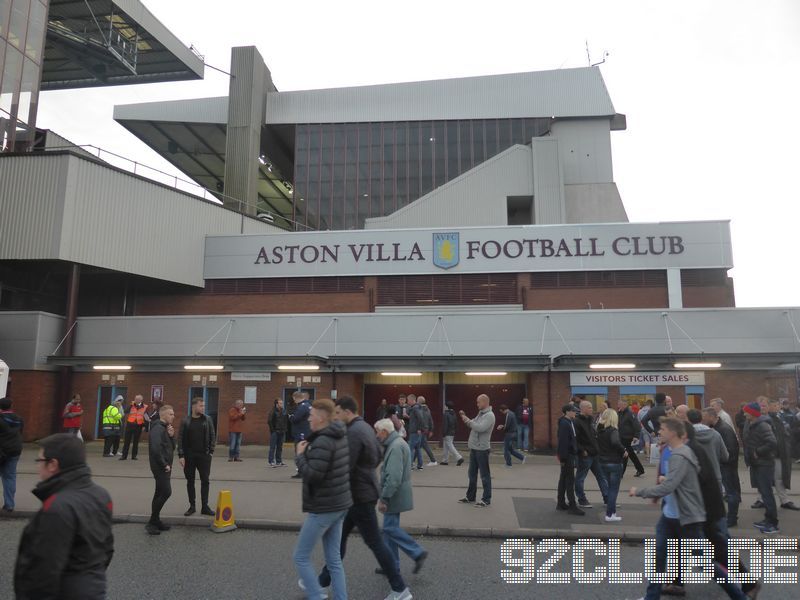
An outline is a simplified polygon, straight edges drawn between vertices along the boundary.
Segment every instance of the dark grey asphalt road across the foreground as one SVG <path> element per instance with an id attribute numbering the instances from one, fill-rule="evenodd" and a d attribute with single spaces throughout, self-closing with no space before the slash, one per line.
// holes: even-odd
<path id="1" fill-rule="evenodd" d="M 12 565 L 25 521 L 0 521 L 0 556 L 7 558 L 0 577 L 0 598 L 13 598 Z M 158 537 L 145 534 L 141 525 L 114 528 L 116 553 L 108 571 L 110 600 L 153 599 L 300 599 L 292 563 L 296 534 L 237 530 L 214 534 L 200 527 L 175 527 Z M 426 538 L 420 542 L 430 557 L 418 575 L 411 561 L 401 558 L 403 575 L 414 598 L 633 600 L 644 594 L 644 584 L 511 584 L 501 576 L 500 540 Z M 519 553 L 517 555 L 520 555 Z M 536 555 L 537 568 L 546 559 Z M 642 546 L 622 546 L 621 571 L 642 573 Z M 796 554 L 793 556 L 797 557 Z M 321 552 L 317 562 L 321 564 Z M 589 554 L 594 559 L 594 555 Z M 570 555 L 554 567 L 567 572 Z M 608 565 L 607 558 L 597 559 Z M 591 562 L 594 562 L 592 560 Z M 345 559 L 349 598 L 382 599 L 389 591 L 383 577 L 375 575 L 375 560 L 358 538 L 348 546 Z M 520 569 L 516 569 L 520 570 Z M 587 571 L 593 570 L 587 567 Z M 798 572 L 798 568 L 788 569 Z M 538 577 L 536 575 L 534 580 Z M 717 600 L 727 596 L 711 584 L 688 585 L 688 597 Z M 800 587 L 767 585 L 760 600 L 797 598 Z"/>

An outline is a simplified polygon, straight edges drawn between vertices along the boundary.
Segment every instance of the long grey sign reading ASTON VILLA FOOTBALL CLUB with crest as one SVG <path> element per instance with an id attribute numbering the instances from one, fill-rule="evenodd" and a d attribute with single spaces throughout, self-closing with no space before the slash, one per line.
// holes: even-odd
<path id="1" fill-rule="evenodd" d="M 209 236 L 204 277 L 730 268 L 728 221 Z"/>

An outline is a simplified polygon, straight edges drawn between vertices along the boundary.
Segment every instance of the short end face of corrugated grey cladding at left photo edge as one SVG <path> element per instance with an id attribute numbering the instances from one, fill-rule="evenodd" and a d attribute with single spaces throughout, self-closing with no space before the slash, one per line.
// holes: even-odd
<path id="1" fill-rule="evenodd" d="M 58 257 L 67 158 L 0 158 L 0 259 Z"/>

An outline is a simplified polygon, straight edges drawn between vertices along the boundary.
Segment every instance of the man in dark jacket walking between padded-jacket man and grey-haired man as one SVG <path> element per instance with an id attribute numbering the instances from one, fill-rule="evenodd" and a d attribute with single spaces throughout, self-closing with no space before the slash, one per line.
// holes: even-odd
<path id="1" fill-rule="evenodd" d="M 372 551 L 380 565 L 380 574 L 385 574 L 392 591 L 401 594 L 406 589 L 397 564 L 389 548 L 383 541 L 375 505 L 380 491 L 375 469 L 381 462 L 381 448 L 375 437 L 375 430 L 358 416 L 356 401 L 350 396 L 341 396 L 335 402 L 334 418 L 347 425 L 347 445 L 350 452 L 350 493 L 353 506 L 347 511 L 342 524 L 342 560 L 347 550 L 347 537 L 354 527 L 358 527 L 361 539 Z M 331 584 L 328 568 L 323 567 L 319 575 L 319 585 L 326 588 Z"/>

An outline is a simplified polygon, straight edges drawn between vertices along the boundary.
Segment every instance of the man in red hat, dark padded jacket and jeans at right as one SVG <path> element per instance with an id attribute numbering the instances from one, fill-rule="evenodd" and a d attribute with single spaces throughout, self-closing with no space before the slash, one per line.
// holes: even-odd
<path id="1" fill-rule="evenodd" d="M 750 467 L 750 481 L 758 488 L 764 503 L 764 520 L 755 523 L 763 533 L 778 532 L 778 508 L 772 493 L 775 479 L 775 450 L 777 441 L 772 431 L 770 418 L 761 414 L 758 402 L 750 402 L 744 407 L 747 426 L 744 432 L 744 459 Z"/>

